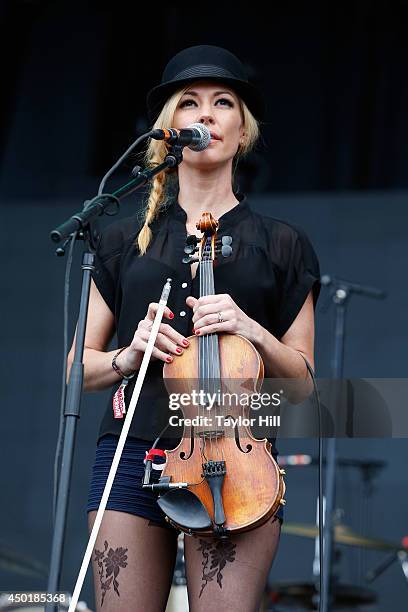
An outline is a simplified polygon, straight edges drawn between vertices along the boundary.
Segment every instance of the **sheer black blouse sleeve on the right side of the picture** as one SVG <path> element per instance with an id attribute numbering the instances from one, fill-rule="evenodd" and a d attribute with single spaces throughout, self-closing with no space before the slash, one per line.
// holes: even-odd
<path id="1" fill-rule="evenodd" d="M 280 237 L 280 299 L 276 335 L 281 338 L 300 312 L 309 291 L 316 308 L 320 293 L 320 267 L 308 237 L 298 227 L 286 226 Z"/>

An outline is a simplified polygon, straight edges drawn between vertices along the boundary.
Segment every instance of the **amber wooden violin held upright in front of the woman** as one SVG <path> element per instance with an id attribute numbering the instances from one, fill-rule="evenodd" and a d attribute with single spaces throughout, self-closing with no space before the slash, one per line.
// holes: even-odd
<path id="1" fill-rule="evenodd" d="M 218 225 L 205 212 L 196 225 L 201 240 L 187 238 L 183 261 L 199 261 L 200 297 L 215 294 Z M 231 243 L 231 237 L 223 237 L 223 256 L 232 252 Z M 196 252 L 198 259 L 192 257 Z M 166 463 L 155 489 L 165 492 L 157 503 L 166 520 L 184 533 L 227 538 L 262 525 L 285 504 L 285 472 L 267 438 L 252 435 L 246 424 L 250 406 L 239 401 L 240 394 L 258 393 L 262 386 L 264 365 L 256 348 L 238 334 L 188 339 L 189 350 L 164 364 L 163 379 L 169 394 L 200 399 L 181 406 L 183 422 L 190 424 L 184 425 L 178 446 L 164 451 Z M 202 399 L 210 397 L 216 401 Z"/>

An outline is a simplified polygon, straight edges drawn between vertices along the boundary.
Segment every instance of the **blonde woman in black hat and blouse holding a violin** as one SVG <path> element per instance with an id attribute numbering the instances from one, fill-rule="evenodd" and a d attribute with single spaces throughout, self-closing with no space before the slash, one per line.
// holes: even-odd
<path id="1" fill-rule="evenodd" d="M 202 123 L 212 133 L 211 144 L 201 152 L 185 148 L 177 169 L 156 176 L 141 223 L 135 217 L 119 220 L 101 237 L 85 340 L 86 390 L 112 386 L 113 395 L 122 378 L 137 372 L 163 284 L 169 276 L 173 283 L 95 546 L 98 610 L 158 612 L 166 607 L 178 532 L 163 520 L 155 495 L 140 484 L 145 452 L 168 417 L 163 363 L 189 350 L 193 332 L 223 332 L 241 334 L 255 345 L 265 376 L 304 380 L 304 358 L 313 367 L 319 293 L 314 251 L 299 228 L 254 213 L 232 184 L 237 160 L 258 138 L 262 106 L 241 62 L 225 49 L 201 45 L 173 57 L 161 84 L 148 95 L 154 127 Z M 152 141 L 149 164 L 160 163 L 166 152 L 163 142 Z M 233 254 L 214 270 L 216 294 L 199 298 L 197 263 L 186 266 L 181 259 L 186 235 L 199 235 L 195 224 L 203 211 L 220 221 L 220 236 L 232 236 Z M 107 352 L 115 332 L 120 350 Z M 134 380 L 129 379 L 127 401 Z M 89 495 L 90 529 L 123 424 L 120 416 L 110 401 Z M 158 447 L 175 445 L 173 436 L 162 438 Z M 192 612 L 258 610 L 278 546 L 277 518 L 231 536 L 227 544 L 185 537 Z"/>

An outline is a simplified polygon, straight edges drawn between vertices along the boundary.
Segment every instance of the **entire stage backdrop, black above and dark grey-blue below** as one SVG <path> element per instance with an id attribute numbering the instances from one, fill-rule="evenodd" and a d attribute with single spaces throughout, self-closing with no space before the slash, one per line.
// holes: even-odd
<path id="1" fill-rule="evenodd" d="M 173 4 L 156 17 L 146 7 L 120 2 L 16 0 L 0 7 L 2 547 L 49 561 L 65 265 L 54 256 L 49 230 L 81 208 L 96 192 L 98 177 L 147 127 L 145 92 L 185 46 L 230 48 L 266 92 L 264 141 L 240 174 L 253 207 L 302 226 L 322 273 L 388 292 L 384 301 L 353 297 L 345 375 L 406 375 L 405 3 L 291 3 L 267 14 L 265 6 L 251 7 L 215 11 L 208 5 L 198 11 Z M 119 182 L 130 167 L 118 173 Z M 129 198 L 121 216 L 137 206 L 138 199 Z M 72 275 L 71 333 L 80 251 Z M 321 309 L 326 298 L 322 290 L 316 321 L 321 377 L 330 374 L 333 347 L 333 313 Z M 104 407 L 104 393 L 84 396 L 62 576 L 67 590 L 87 542 L 86 495 Z M 374 481 L 367 514 L 361 473 L 339 470 L 344 522 L 399 541 L 407 533 L 406 440 L 341 440 L 338 450 L 341 457 L 387 462 Z M 281 440 L 279 451 L 315 455 L 317 443 Z M 288 470 L 287 482 L 286 520 L 314 522 L 316 470 Z M 6 569 L 1 550 L 0 590 L 45 588 L 45 582 Z M 364 584 L 365 570 L 383 558 L 379 551 L 341 551 L 340 577 L 353 584 Z M 313 540 L 283 536 L 270 584 L 310 580 L 313 557 Z M 374 586 L 379 604 L 373 610 L 405 610 L 407 584 L 397 564 Z M 81 598 L 93 607 L 89 575 Z"/>

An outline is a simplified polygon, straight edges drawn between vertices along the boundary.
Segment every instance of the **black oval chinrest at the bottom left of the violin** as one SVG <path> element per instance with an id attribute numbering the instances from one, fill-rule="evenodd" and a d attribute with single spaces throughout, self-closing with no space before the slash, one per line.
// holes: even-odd
<path id="1" fill-rule="evenodd" d="M 187 529 L 208 529 L 211 518 L 200 499 L 189 489 L 171 489 L 157 499 L 167 516 Z"/>

